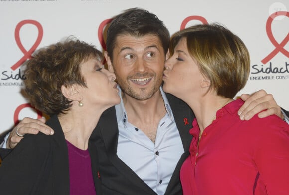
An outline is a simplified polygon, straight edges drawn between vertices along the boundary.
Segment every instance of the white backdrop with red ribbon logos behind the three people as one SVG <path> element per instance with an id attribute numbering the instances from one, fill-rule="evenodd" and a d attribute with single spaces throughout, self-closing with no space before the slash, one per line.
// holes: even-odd
<path id="1" fill-rule="evenodd" d="M 105 21 L 132 7 L 155 13 L 171 34 L 200 22 L 225 25 L 251 55 L 249 81 L 238 95 L 265 89 L 289 110 L 288 0 L 0 0 L 0 133 L 41 115 L 20 93 L 21 64 L 35 49 L 74 35 L 103 50 Z"/>

